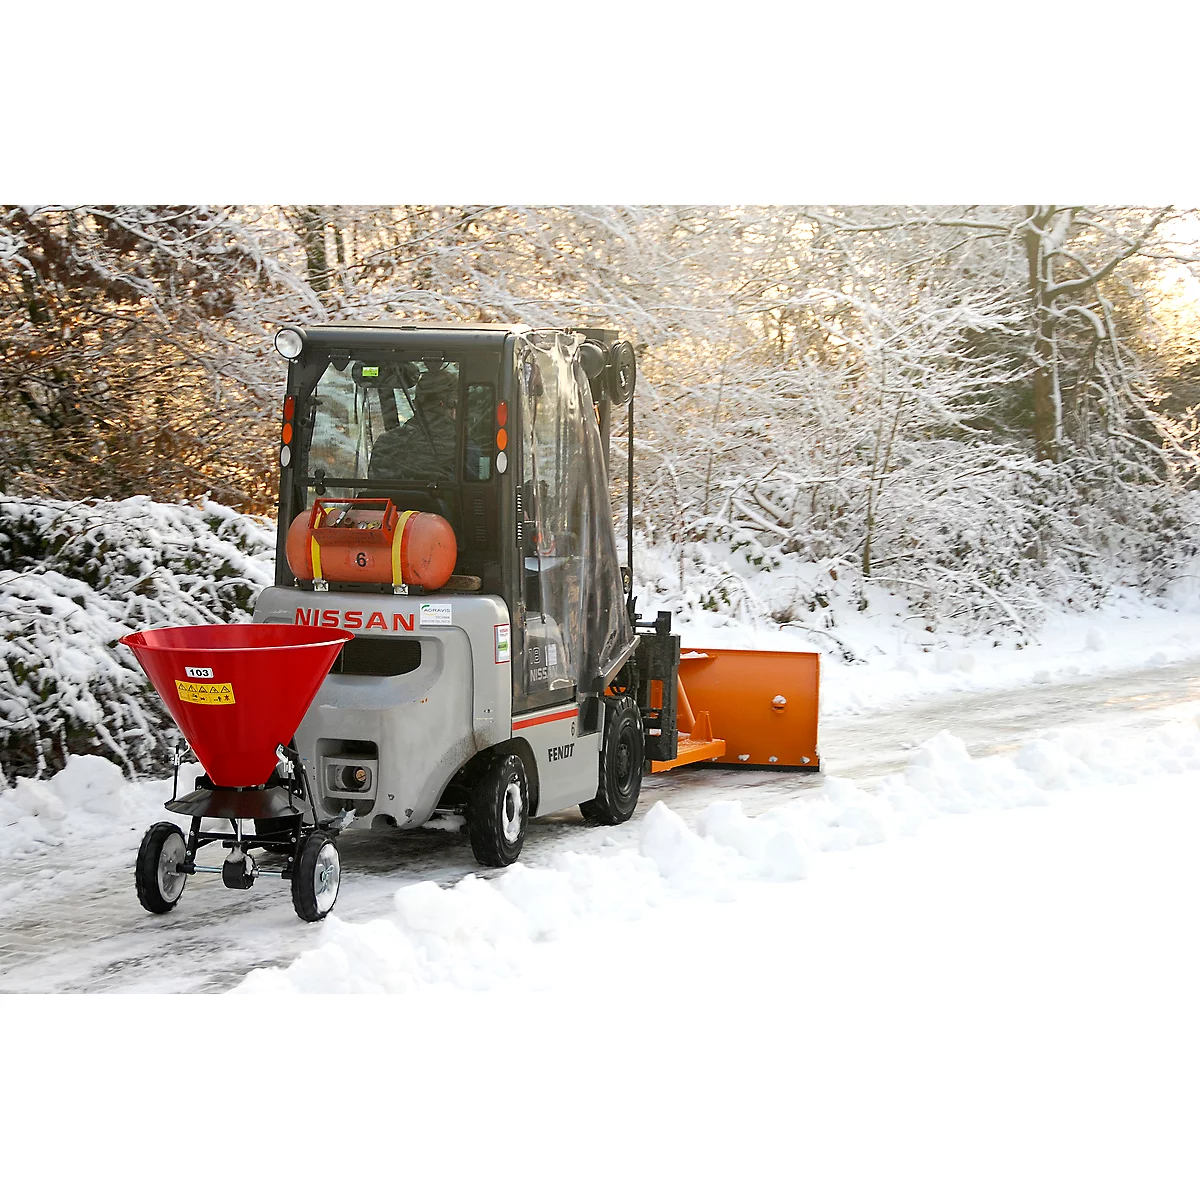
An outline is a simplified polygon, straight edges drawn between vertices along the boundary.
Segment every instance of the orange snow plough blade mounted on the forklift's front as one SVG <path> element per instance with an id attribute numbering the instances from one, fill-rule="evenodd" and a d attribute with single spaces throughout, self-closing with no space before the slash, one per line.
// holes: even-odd
<path id="1" fill-rule="evenodd" d="M 820 655 L 684 649 L 679 655 L 677 756 L 689 762 L 816 770 Z"/>

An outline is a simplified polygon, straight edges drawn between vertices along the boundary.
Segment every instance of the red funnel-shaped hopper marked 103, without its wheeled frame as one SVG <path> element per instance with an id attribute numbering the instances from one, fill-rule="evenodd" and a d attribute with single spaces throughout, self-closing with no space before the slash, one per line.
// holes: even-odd
<path id="1" fill-rule="evenodd" d="M 187 625 L 121 638 L 218 787 L 257 787 L 354 635 L 294 625 Z"/>

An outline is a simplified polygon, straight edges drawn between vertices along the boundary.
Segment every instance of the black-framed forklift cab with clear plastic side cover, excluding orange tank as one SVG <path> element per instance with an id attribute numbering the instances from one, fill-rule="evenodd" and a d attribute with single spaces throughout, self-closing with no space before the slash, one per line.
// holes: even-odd
<path id="1" fill-rule="evenodd" d="M 287 332 L 300 347 L 284 407 L 277 586 L 312 587 L 293 575 L 284 542 L 316 499 L 436 512 L 457 541 L 439 590 L 496 595 L 511 613 L 514 712 L 599 697 L 635 643 L 606 470 L 610 414 L 626 398 L 614 395 L 613 335 L 436 324 Z"/>

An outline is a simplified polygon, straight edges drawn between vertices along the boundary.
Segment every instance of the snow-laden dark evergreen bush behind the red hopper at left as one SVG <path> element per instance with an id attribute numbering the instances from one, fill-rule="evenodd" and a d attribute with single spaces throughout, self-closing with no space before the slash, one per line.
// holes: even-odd
<path id="1" fill-rule="evenodd" d="M 274 528 L 217 504 L 0 496 L 0 786 L 97 752 L 161 767 L 174 724 L 118 638 L 246 619 Z"/>

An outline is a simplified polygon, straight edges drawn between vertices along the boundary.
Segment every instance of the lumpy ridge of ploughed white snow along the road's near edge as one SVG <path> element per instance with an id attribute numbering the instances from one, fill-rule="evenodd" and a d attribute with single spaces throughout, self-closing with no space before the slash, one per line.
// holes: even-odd
<path id="1" fill-rule="evenodd" d="M 538 943 L 582 920 L 638 919 L 688 899 L 728 901 L 754 886 L 809 877 L 814 857 L 916 833 L 941 815 L 1044 805 L 1064 790 L 1200 772 L 1200 720 L 1121 737 L 1072 731 L 1026 743 L 1015 755 L 976 760 L 940 733 L 907 769 L 872 790 L 830 779 L 815 799 L 750 817 L 718 800 L 690 828 L 662 803 L 641 822 L 637 851 L 564 853 L 548 868 L 522 864 L 451 888 L 401 888 L 389 918 L 330 918 L 320 944 L 286 968 L 252 971 L 248 992 L 413 991 L 491 988 L 539 970 Z"/>

